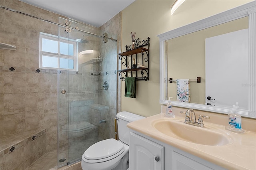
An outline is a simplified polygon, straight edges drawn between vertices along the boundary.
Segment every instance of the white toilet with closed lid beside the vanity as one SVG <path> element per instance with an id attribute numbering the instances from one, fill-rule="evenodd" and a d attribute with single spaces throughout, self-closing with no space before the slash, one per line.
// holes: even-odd
<path id="1" fill-rule="evenodd" d="M 144 117 L 125 111 L 116 117 L 120 140 L 110 138 L 90 146 L 82 155 L 83 170 L 127 170 L 130 130 L 126 124 Z"/>

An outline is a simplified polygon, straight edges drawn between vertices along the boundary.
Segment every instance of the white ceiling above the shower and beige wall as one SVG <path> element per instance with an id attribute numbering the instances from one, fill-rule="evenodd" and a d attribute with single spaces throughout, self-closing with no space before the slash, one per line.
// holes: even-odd
<path id="1" fill-rule="evenodd" d="M 135 0 L 20 0 L 39 8 L 100 27 Z"/>

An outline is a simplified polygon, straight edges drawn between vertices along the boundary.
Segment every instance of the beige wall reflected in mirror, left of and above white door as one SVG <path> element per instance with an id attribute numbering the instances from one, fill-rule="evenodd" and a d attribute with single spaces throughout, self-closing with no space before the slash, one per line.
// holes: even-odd
<path id="1" fill-rule="evenodd" d="M 205 104 L 205 70 L 207 69 L 205 68 L 205 39 L 246 28 L 248 28 L 248 17 L 165 41 L 165 61 L 168 62 L 166 72 L 168 75 L 165 77 L 167 79 L 170 77 L 173 79 L 201 77 L 201 83 L 190 83 L 190 103 Z M 248 69 L 248 65 L 246 68 L 241 67 L 241 69 Z M 222 85 L 223 89 L 228 89 L 228 84 L 223 83 Z M 176 101 L 176 93 L 176 83 L 168 83 L 168 94 L 165 98 L 173 97 L 173 100 Z M 223 90 L 222 93 L 228 95 L 230 92 Z M 229 103 L 223 103 L 223 105 L 230 107 Z"/>

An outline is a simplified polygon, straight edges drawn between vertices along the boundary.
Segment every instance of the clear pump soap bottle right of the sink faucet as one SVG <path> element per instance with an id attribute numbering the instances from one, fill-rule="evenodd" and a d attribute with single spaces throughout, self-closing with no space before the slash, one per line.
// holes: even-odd
<path id="1" fill-rule="evenodd" d="M 236 105 L 233 105 L 232 114 L 228 114 L 228 126 L 226 126 L 226 130 L 231 130 L 232 132 L 244 133 L 242 129 L 242 117 L 237 115 L 238 102 Z"/>

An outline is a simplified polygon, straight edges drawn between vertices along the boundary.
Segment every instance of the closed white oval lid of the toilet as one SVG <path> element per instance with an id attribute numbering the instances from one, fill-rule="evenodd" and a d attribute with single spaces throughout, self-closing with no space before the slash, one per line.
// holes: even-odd
<path id="1" fill-rule="evenodd" d="M 84 152 L 84 158 L 88 160 L 107 158 L 120 152 L 123 148 L 124 145 L 113 138 L 102 140 L 90 146 Z"/>

